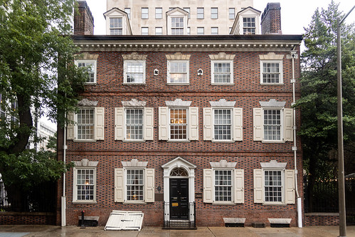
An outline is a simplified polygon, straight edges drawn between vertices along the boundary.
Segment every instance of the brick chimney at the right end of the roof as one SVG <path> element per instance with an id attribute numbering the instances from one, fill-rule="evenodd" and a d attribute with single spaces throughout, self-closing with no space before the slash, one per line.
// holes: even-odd
<path id="1" fill-rule="evenodd" d="M 281 7 L 279 2 L 268 3 L 261 15 L 261 33 L 282 34 L 281 31 Z"/>

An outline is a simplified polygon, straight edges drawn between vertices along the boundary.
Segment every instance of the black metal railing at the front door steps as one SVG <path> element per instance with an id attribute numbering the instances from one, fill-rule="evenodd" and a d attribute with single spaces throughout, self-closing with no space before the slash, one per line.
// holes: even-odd
<path id="1" fill-rule="evenodd" d="M 196 228 L 195 202 L 189 202 L 189 210 L 186 213 L 187 218 L 171 218 L 170 207 L 170 203 L 164 201 L 164 228 Z"/>

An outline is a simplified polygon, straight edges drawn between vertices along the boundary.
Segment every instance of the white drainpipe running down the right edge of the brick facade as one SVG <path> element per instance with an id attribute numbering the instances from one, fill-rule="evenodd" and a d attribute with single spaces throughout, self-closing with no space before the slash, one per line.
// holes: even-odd
<path id="1" fill-rule="evenodd" d="M 295 48 L 292 48 L 292 51 L 290 52 L 290 58 L 292 59 L 292 95 L 293 95 L 293 101 L 292 105 L 295 105 L 296 102 L 296 89 L 295 89 L 295 84 L 296 84 L 296 79 L 295 79 L 295 58 L 298 58 L 297 51 L 295 51 Z M 297 140 L 296 140 L 296 132 L 297 132 L 297 127 L 296 127 L 296 110 L 293 110 L 293 153 L 294 153 L 294 158 L 295 158 L 295 191 L 296 191 L 296 196 L 297 196 L 297 223 L 298 227 L 302 228 L 302 199 L 300 197 L 300 194 L 298 192 L 298 181 L 297 181 Z"/>

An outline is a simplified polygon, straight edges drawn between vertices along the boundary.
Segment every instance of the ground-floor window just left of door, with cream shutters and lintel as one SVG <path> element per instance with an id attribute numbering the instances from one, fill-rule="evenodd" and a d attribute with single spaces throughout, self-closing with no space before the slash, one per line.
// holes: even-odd
<path id="1" fill-rule="evenodd" d="M 154 169 L 137 159 L 121 163 L 123 168 L 115 169 L 115 202 L 154 202 Z"/>

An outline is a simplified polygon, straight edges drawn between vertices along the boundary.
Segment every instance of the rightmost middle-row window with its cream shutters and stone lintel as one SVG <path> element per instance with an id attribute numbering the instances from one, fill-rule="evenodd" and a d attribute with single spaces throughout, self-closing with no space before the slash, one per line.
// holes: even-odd
<path id="1" fill-rule="evenodd" d="M 262 108 L 253 109 L 254 141 L 292 142 L 293 109 L 284 108 L 285 102 L 260 102 Z"/>

